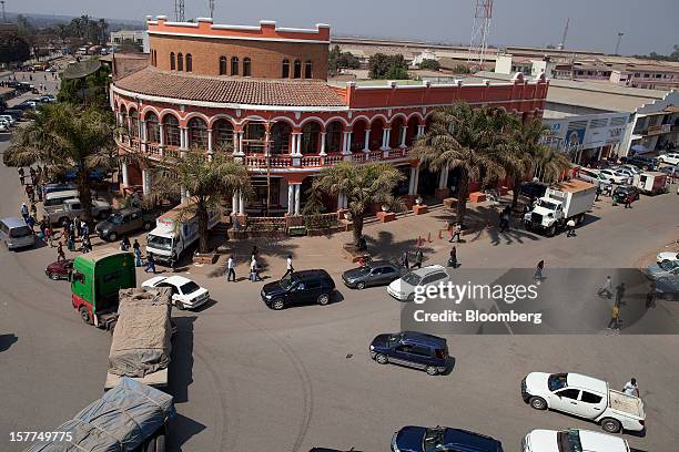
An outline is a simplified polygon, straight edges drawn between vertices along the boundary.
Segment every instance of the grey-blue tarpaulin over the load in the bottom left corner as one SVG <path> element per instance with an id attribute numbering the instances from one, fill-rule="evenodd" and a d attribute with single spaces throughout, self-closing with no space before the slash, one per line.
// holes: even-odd
<path id="1" fill-rule="evenodd" d="M 52 430 L 70 432 L 70 441 L 36 442 L 26 452 L 131 451 L 174 414 L 172 396 L 123 378 L 101 399 Z"/>

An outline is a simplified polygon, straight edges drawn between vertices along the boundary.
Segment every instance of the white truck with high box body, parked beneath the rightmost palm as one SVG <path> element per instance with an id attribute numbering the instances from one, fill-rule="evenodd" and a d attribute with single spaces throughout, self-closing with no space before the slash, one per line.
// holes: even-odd
<path id="1" fill-rule="evenodd" d="M 571 218 L 576 225 L 582 223 L 596 196 L 596 185 L 585 181 L 570 179 L 555 184 L 547 188 L 545 196 L 537 199 L 533 210 L 524 215 L 524 224 L 529 230 L 536 229 L 553 236 Z"/>

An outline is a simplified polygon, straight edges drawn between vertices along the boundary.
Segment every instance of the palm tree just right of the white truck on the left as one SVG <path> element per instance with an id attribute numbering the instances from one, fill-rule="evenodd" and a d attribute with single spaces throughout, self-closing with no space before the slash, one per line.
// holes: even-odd
<path id="1" fill-rule="evenodd" d="M 180 214 L 199 218 L 200 253 L 210 253 L 207 223 L 210 212 L 221 210 L 224 197 L 240 192 L 252 196 L 247 170 L 234 162 L 231 153 L 215 152 L 209 158 L 204 150 L 192 148 L 184 156 L 166 157 L 153 179 L 153 194 L 160 198 L 178 198 L 189 192 L 191 203 Z"/>

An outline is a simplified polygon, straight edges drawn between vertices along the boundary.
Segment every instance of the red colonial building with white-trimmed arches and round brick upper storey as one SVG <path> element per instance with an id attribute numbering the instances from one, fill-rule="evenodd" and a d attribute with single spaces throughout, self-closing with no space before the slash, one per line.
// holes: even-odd
<path id="1" fill-rule="evenodd" d="M 432 174 L 411 156 L 437 106 L 491 104 L 525 119 L 540 116 L 548 82 L 517 74 L 510 82 L 453 83 L 327 81 L 331 30 L 223 25 L 146 18 L 150 64 L 111 86 L 111 106 L 124 133 L 120 153 L 151 162 L 197 147 L 232 153 L 246 165 L 254 199 L 234 196 L 235 213 L 298 215 L 306 188 L 323 167 L 342 161 L 388 162 L 407 181 L 398 194 L 445 196 L 455 175 Z M 123 185 L 153 184 L 152 168 L 123 166 Z M 268 202 L 267 202 L 268 197 Z M 346 199 L 328 201 L 328 208 Z"/>

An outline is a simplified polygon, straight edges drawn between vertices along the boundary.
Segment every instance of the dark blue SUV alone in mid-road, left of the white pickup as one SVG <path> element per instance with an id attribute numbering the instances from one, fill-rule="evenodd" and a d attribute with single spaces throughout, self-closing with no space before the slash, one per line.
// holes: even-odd
<path id="1" fill-rule="evenodd" d="M 371 343 L 371 358 L 381 364 L 393 362 L 436 376 L 448 367 L 448 343 L 437 336 L 414 331 L 379 335 Z"/>

